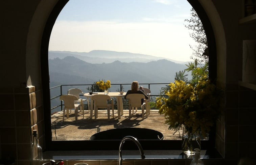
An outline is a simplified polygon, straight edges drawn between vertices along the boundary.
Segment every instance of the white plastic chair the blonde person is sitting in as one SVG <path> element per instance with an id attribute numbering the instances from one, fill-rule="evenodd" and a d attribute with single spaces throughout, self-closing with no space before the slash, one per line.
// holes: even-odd
<path id="1" fill-rule="evenodd" d="M 132 108 L 141 107 L 142 119 L 144 120 L 144 107 L 146 108 L 146 117 L 148 113 L 148 102 L 145 100 L 145 96 L 139 93 L 132 93 L 126 96 L 126 99 L 129 99 L 129 117 L 131 118 Z M 145 102 L 141 105 L 141 99 L 144 99 Z"/>

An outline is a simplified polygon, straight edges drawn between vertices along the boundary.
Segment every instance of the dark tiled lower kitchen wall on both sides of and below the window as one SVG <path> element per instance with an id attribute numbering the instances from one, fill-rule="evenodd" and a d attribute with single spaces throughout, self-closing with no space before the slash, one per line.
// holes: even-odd
<path id="1" fill-rule="evenodd" d="M 44 121 L 42 91 L 26 88 L 0 88 L 0 159 L 14 158 L 15 164 L 29 164 L 31 126 L 38 129 L 39 142 L 44 147 Z M 238 84 L 226 86 L 223 115 L 216 124 L 216 147 L 224 160 L 204 160 L 207 164 L 226 164 L 243 157 L 253 157 L 256 152 L 256 91 Z M 30 118 L 31 114 L 31 118 Z M 144 160 L 124 164 L 180 164 L 191 160 Z M 67 161 L 65 165 L 73 165 Z M 115 165 L 117 161 L 90 161 L 90 165 Z"/>

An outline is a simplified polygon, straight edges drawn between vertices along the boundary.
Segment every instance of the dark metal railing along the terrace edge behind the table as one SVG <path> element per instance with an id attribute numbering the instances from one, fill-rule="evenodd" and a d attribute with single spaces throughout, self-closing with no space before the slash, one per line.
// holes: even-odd
<path id="1" fill-rule="evenodd" d="M 143 85 L 143 87 L 146 87 L 146 88 L 148 88 L 148 89 L 150 89 L 151 91 L 152 91 L 152 88 L 150 88 L 150 85 L 168 85 L 169 83 L 144 83 L 144 84 L 142 84 L 142 83 L 140 83 L 140 85 Z M 57 94 L 57 95 L 54 95 L 53 97 L 51 97 L 50 98 L 50 100 L 52 101 L 53 99 L 56 99 L 56 98 L 59 98 L 62 94 L 63 94 L 63 87 L 65 87 L 65 86 L 70 86 L 70 87 L 72 87 L 72 86 L 87 86 L 87 87 L 91 87 L 91 89 L 94 89 L 93 88 L 93 86 L 95 86 L 96 84 L 67 84 L 67 85 L 58 85 L 58 86 L 54 86 L 54 87 L 51 87 L 50 88 L 50 92 L 52 91 L 52 90 L 54 90 L 54 89 L 57 89 L 57 88 L 60 88 L 59 89 L 59 93 Z M 114 85 L 120 85 L 120 89 L 122 89 L 122 86 L 123 85 L 131 85 L 130 83 L 129 84 L 111 84 L 112 86 L 114 86 Z M 73 87 L 72 87 L 73 88 Z M 160 88 L 161 89 L 161 88 Z M 160 89 L 159 89 L 159 91 L 160 91 Z M 92 91 L 92 92 L 94 92 L 94 91 Z M 65 94 L 66 94 L 66 91 L 65 91 Z M 83 96 L 83 95 L 81 95 L 81 96 Z M 150 94 L 150 97 L 157 97 L 157 96 L 159 96 L 159 94 Z M 56 106 L 54 106 L 54 107 L 51 107 L 51 111 L 53 110 L 53 109 L 56 109 L 56 108 L 58 108 L 58 107 L 61 107 L 61 109 L 62 109 L 62 101 L 60 101 L 60 104 L 59 105 L 56 105 Z"/>

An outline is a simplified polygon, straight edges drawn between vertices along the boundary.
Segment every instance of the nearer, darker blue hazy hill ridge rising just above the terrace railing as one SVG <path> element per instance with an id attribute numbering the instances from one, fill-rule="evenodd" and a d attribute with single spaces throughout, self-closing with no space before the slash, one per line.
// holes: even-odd
<path id="1" fill-rule="evenodd" d="M 111 83 L 169 83 L 174 81 L 176 72 L 186 68 L 168 60 L 143 62 L 120 62 L 92 64 L 76 57 L 49 59 L 50 83 L 92 84 L 105 79 Z"/>

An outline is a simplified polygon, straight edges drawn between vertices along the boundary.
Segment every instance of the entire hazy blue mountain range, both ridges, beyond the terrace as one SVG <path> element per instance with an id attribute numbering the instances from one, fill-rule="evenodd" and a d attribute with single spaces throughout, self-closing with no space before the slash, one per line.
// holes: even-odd
<path id="1" fill-rule="evenodd" d="M 140 85 L 144 84 L 144 87 L 149 83 L 165 83 L 150 85 L 151 94 L 158 95 L 161 87 L 174 81 L 176 72 L 187 68 L 183 63 L 142 54 L 127 52 L 118 54 L 112 51 L 91 51 L 90 55 L 85 56 L 85 54 L 87 53 L 49 51 L 50 87 L 68 85 L 62 86 L 62 93 L 75 87 L 81 88 L 83 92 L 89 92 L 86 89 L 89 85 L 77 86 L 77 84 L 110 80 L 111 84 L 129 84 L 123 85 L 123 90 L 127 91 L 133 81 L 138 81 Z M 120 85 L 111 85 L 110 91 L 119 89 Z M 56 95 L 60 95 L 60 88 L 51 89 L 51 97 Z M 59 104 L 59 98 L 51 100 L 52 106 Z"/>

